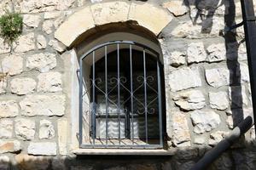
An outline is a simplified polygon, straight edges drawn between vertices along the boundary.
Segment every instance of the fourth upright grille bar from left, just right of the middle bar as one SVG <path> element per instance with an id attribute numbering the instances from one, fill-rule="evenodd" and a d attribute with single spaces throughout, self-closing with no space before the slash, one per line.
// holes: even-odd
<path id="1" fill-rule="evenodd" d="M 131 53 L 131 45 L 130 45 L 130 77 L 131 77 L 131 138 L 132 144 L 134 144 L 134 126 L 133 126 L 133 86 L 132 86 L 132 53 Z"/>

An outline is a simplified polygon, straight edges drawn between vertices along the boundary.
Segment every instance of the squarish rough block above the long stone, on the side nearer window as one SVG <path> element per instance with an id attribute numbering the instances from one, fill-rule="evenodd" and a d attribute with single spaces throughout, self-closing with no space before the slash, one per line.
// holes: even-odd
<path id="1" fill-rule="evenodd" d="M 58 92 L 61 90 L 61 73 L 46 72 L 38 75 L 38 92 Z"/>

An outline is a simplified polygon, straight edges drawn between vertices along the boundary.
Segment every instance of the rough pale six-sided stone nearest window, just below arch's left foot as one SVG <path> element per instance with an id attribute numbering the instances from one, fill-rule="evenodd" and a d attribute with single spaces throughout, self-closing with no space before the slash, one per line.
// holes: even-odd
<path id="1" fill-rule="evenodd" d="M 56 66 L 55 54 L 41 53 L 28 56 L 26 59 L 26 67 L 28 69 L 36 69 L 41 72 L 47 72 Z"/>

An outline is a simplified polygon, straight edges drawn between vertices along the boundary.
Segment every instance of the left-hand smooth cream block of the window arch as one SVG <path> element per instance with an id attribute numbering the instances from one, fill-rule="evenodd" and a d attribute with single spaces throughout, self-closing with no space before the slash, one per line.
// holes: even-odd
<path id="1" fill-rule="evenodd" d="M 70 46 L 77 37 L 84 33 L 84 31 L 87 31 L 94 26 L 95 24 L 90 8 L 83 8 L 71 15 L 67 21 L 55 31 L 55 38 L 66 46 Z M 70 34 L 71 30 L 72 34 Z"/>

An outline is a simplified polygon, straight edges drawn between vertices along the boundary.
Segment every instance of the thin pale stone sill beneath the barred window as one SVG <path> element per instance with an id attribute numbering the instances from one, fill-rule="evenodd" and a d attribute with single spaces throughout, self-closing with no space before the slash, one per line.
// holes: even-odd
<path id="1" fill-rule="evenodd" d="M 171 150 L 114 150 L 114 149 L 77 149 L 73 154 L 81 156 L 173 156 L 174 149 Z"/>

